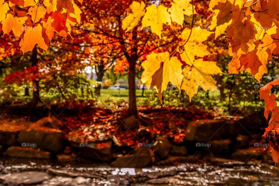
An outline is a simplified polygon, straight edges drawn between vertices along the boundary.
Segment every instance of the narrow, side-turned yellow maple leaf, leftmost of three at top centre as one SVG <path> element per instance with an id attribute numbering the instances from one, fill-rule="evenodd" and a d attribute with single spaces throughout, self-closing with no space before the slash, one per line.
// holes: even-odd
<path id="1" fill-rule="evenodd" d="M 137 26 L 138 22 L 142 18 L 145 13 L 145 4 L 143 1 L 141 3 L 137 1 L 133 1 L 130 5 L 128 16 L 122 21 L 122 29 L 126 30 L 126 32 L 132 30 L 135 26 Z"/>

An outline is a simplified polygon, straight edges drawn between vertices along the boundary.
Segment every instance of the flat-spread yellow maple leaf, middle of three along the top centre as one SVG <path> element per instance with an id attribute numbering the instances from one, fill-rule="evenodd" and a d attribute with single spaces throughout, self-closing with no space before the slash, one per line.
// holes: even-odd
<path id="1" fill-rule="evenodd" d="M 151 32 L 157 34 L 161 39 L 163 23 L 171 25 L 171 15 L 167 12 L 167 7 L 163 5 L 150 5 L 146 8 L 146 13 L 142 18 L 142 28 L 151 27 Z"/>

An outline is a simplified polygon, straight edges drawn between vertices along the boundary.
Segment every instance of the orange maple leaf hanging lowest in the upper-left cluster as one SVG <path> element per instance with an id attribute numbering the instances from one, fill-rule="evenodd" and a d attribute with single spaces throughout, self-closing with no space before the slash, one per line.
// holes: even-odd
<path id="1" fill-rule="evenodd" d="M 19 42 L 19 46 L 23 53 L 32 51 L 36 44 L 38 44 L 41 49 L 48 49 L 42 37 L 41 25 L 37 25 L 33 29 L 26 29 L 22 40 Z"/>

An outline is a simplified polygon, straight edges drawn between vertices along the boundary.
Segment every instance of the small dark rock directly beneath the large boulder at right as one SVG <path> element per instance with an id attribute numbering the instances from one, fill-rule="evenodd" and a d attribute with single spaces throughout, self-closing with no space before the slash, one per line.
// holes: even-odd
<path id="1" fill-rule="evenodd" d="M 233 143 L 231 140 L 214 140 L 209 142 L 209 147 L 203 147 L 203 149 L 210 151 L 215 157 L 224 157 L 231 155 L 234 151 Z"/>

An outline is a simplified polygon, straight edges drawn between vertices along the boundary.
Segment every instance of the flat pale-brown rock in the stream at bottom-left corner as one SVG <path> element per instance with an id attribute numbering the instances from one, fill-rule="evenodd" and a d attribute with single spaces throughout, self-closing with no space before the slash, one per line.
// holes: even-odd
<path id="1" fill-rule="evenodd" d="M 50 177 L 44 172 L 28 171 L 21 173 L 10 173 L 0 176 L 3 184 L 8 185 L 33 185 L 39 184 L 44 180 L 49 180 Z"/>

